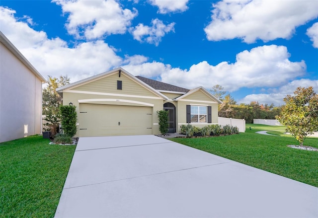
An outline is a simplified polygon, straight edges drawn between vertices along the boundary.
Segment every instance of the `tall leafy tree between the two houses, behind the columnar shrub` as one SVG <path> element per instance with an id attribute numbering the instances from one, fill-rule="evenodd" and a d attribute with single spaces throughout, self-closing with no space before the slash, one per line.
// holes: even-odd
<path id="1" fill-rule="evenodd" d="M 63 99 L 56 92 L 56 88 L 70 84 L 70 78 L 66 76 L 60 76 L 59 78 L 49 76 L 48 84 L 43 88 L 43 103 L 42 103 L 42 113 L 45 115 L 44 130 L 51 131 L 51 135 L 55 136 L 59 124 L 61 123 L 61 118 L 59 114 L 59 106 L 62 105 Z"/>

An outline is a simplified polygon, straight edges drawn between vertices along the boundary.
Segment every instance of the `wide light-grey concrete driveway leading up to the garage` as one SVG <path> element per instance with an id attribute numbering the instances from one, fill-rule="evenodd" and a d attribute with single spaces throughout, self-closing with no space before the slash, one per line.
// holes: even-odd
<path id="1" fill-rule="evenodd" d="M 157 136 L 80 138 L 55 218 L 317 218 L 318 188 Z"/>

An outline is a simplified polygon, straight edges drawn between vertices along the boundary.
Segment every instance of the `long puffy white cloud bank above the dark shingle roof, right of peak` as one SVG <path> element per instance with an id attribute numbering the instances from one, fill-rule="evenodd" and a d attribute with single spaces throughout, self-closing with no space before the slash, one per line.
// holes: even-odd
<path id="1" fill-rule="evenodd" d="M 171 69 L 161 78 L 187 88 L 220 84 L 230 92 L 241 87 L 276 87 L 306 72 L 304 61 L 291 62 L 289 56 L 285 46 L 260 46 L 240 52 L 233 64 L 221 62 L 212 66 L 203 61 L 192 65 L 189 71 Z"/>

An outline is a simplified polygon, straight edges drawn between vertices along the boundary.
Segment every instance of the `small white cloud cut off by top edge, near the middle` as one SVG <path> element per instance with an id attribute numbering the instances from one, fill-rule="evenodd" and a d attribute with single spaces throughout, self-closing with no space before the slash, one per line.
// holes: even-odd
<path id="1" fill-rule="evenodd" d="M 165 14 L 186 11 L 189 8 L 187 6 L 188 1 L 189 0 L 150 0 L 150 3 L 159 7 L 159 13 Z"/>

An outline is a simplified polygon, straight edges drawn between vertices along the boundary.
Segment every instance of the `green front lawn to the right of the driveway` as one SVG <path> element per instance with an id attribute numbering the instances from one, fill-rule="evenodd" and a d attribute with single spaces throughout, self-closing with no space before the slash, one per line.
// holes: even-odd
<path id="1" fill-rule="evenodd" d="M 293 137 L 255 134 L 279 129 L 284 127 L 249 124 L 239 135 L 171 140 L 318 187 L 318 151 L 287 147 L 299 145 Z M 318 138 L 307 138 L 304 145 L 318 148 Z"/>

